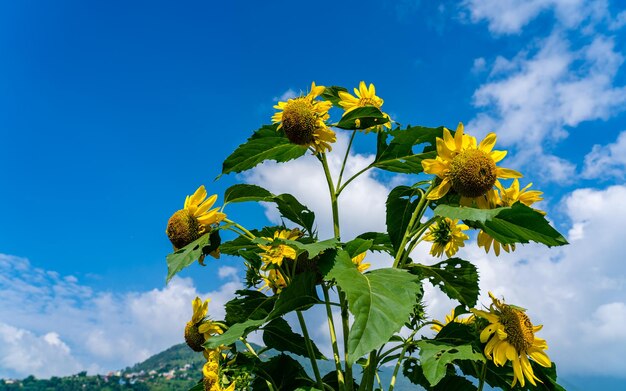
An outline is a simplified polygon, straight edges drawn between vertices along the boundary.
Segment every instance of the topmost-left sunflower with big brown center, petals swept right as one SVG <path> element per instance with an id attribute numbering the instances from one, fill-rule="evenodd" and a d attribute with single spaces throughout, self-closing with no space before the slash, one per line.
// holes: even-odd
<path id="1" fill-rule="evenodd" d="M 272 122 L 280 124 L 278 129 L 284 129 L 289 141 L 312 147 L 316 153 L 332 150 L 330 143 L 337 141 L 335 132 L 326 125 L 333 104 L 316 99 L 325 88 L 311 83 L 307 95 L 278 102 L 274 108 L 281 111 L 272 116 Z"/>

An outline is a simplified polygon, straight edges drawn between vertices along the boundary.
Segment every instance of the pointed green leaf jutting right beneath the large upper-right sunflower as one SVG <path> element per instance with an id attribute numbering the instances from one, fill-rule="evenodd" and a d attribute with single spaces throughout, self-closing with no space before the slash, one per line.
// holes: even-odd
<path id="1" fill-rule="evenodd" d="M 552 228 L 541 213 L 521 202 L 516 202 L 507 209 L 502 208 L 500 213 L 484 223 L 469 220 L 465 222 L 472 227 L 481 228 L 503 244 L 528 243 L 530 241 L 543 243 L 547 246 L 567 244 L 563 235 Z"/>

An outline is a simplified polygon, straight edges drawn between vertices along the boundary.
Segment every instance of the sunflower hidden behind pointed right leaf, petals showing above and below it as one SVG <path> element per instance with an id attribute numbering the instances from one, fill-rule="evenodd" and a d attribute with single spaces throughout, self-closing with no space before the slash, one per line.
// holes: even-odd
<path id="1" fill-rule="evenodd" d="M 532 183 L 526 185 L 523 189 L 520 190 L 519 181 L 517 179 L 513 180 L 511 186 L 505 189 L 501 183 L 496 183 L 496 190 L 489 190 L 489 192 L 478 202 L 478 207 L 482 209 L 493 209 L 498 207 L 506 207 L 511 206 L 516 202 L 521 202 L 526 206 L 530 206 L 537 201 L 543 200 L 541 195 L 543 192 L 538 190 L 528 190 L 532 186 Z M 545 214 L 542 210 L 537 210 L 539 213 Z M 493 245 L 493 252 L 496 256 L 500 255 L 500 248 L 502 248 L 507 253 L 510 251 L 515 251 L 515 244 L 503 244 L 495 240 L 485 231 L 480 231 L 478 233 L 478 237 L 476 238 L 479 247 L 483 247 L 485 252 L 489 253 L 491 246 Z"/>

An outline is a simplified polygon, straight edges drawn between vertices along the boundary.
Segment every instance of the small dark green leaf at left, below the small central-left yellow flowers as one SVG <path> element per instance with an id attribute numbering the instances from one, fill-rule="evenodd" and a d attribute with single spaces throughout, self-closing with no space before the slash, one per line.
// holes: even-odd
<path id="1" fill-rule="evenodd" d="M 226 323 L 242 323 L 248 319 L 265 319 L 274 308 L 275 296 L 266 296 L 257 290 L 239 290 L 238 297 L 225 305 Z"/>

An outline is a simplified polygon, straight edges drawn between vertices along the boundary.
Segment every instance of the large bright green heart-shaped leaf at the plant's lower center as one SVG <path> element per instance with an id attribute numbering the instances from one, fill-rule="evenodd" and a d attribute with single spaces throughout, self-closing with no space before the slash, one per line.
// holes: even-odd
<path id="1" fill-rule="evenodd" d="M 343 250 L 328 273 L 343 289 L 354 323 L 348 338 L 348 365 L 398 332 L 413 311 L 421 285 L 405 270 L 378 269 L 361 274 Z"/>

